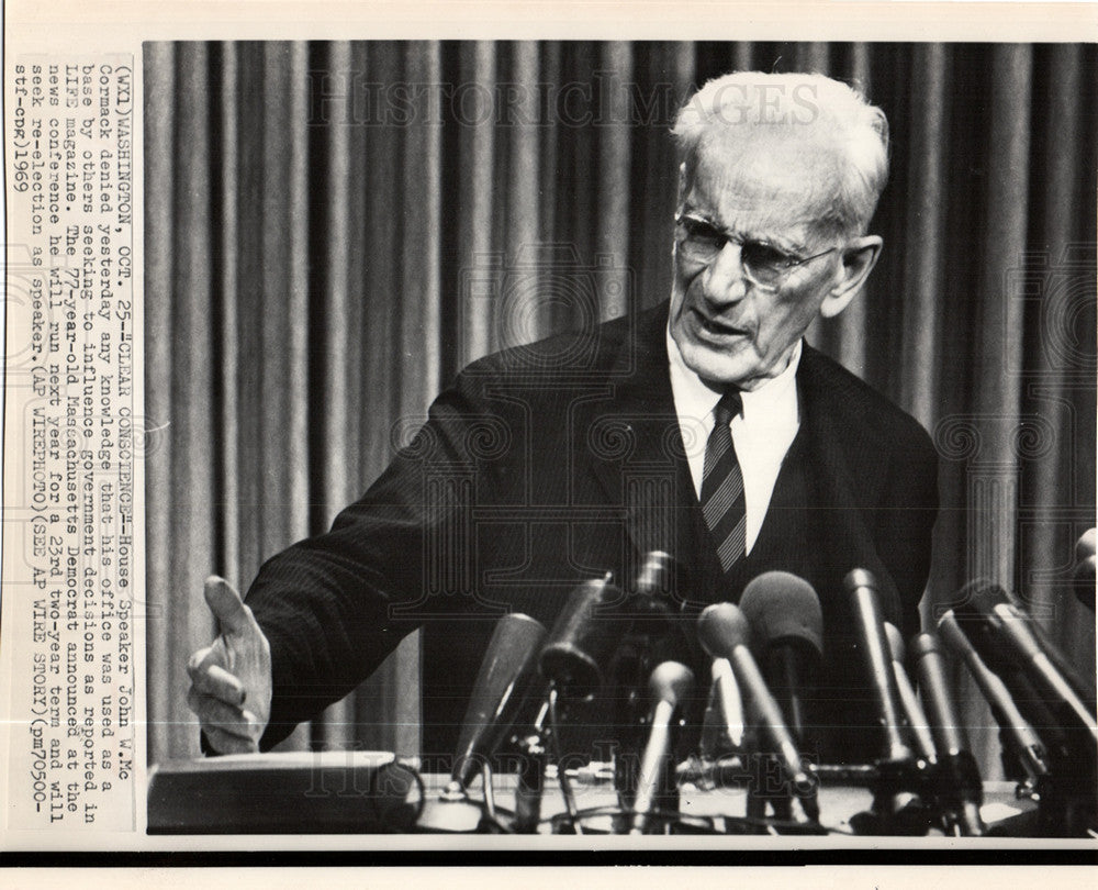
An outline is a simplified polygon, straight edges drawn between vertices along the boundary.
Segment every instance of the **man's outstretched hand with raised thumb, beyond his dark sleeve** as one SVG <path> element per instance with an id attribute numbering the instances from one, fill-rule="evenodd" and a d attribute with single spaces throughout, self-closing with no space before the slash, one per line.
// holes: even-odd
<path id="1" fill-rule="evenodd" d="M 205 601 L 219 636 L 191 656 L 187 705 L 221 754 L 259 750 L 271 713 L 271 654 L 251 610 L 224 578 L 205 580 Z"/>

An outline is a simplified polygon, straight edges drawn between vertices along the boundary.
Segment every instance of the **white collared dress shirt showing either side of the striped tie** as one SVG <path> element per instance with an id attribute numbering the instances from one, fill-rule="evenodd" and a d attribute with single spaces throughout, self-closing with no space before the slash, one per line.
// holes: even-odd
<path id="1" fill-rule="evenodd" d="M 686 460 L 694 479 L 694 491 L 702 497 L 702 471 L 705 444 L 713 432 L 713 411 L 720 393 L 709 389 L 683 361 L 679 344 L 670 331 L 668 356 L 671 359 L 671 391 L 675 413 L 682 430 Z M 782 461 L 800 426 L 797 409 L 797 366 L 800 364 L 800 342 L 793 349 L 788 367 L 752 392 L 741 392 L 743 413 L 732 418 L 732 444 L 743 474 L 747 502 L 747 553 L 751 553 L 762 529 L 774 493 L 774 483 Z"/>

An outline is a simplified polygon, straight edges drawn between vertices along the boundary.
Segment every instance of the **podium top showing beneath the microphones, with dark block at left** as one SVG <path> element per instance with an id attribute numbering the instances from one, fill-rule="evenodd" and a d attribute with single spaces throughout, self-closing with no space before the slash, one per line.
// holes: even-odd
<path id="1" fill-rule="evenodd" d="M 413 765 L 388 752 L 250 754 L 169 760 L 154 768 L 148 787 L 150 834 L 472 834 L 482 828 L 479 789 L 472 801 L 441 799 L 448 776 L 421 777 Z M 509 806 L 516 777 L 496 775 L 495 797 Z M 1010 782 L 985 783 L 984 815 L 989 825 L 1024 826 L 1033 810 L 1013 798 Z M 609 782 L 573 779 L 578 803 L 587 811 L 610 809 L 617 800 Z M 833 837 L 852 836 L 849 820 L 872 801 L 861 787 L 819 790 L 821 823 Z M 746 813 L 740 788 L 681 791 L 680 810 L 693 820 L 737 820 Z M 552 833 L 564 813 L 556 781 L 546 782 L 540 832 Z M 593 817 L 587 828 L 606 834 L 609 821 Z M 735 832 L 733 832 L 735 833 Z M 724 835 L 724 832 L 714 834 Z M 1004 832 L 1007 836 L 1015 832 Z M 1024 835 L 1024 828 L 1015 835 Z M 537 841 L 530 837 L 530 844 Z"/>

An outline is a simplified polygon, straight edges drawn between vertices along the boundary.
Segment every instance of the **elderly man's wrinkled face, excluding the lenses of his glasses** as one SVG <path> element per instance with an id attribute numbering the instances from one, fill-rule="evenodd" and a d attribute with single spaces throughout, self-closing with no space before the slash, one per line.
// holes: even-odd
<path id="1" fill-rule="evenodd" d="M 834 181 L 826 153 L 814 157 L 793 137 L 757 133 L 703 142 L 696 160 L 684 183 L 687 214 L 798 258 L 841 246 L 818 226 Z M 687 367 L 714 385 L 751 390 L 781 374 L 838 282 L 839 252 L 789 268 L 773 292 L 744 276 L 732 241 L 708 263 L 686 254 L 676 241 L 671 335 Z"/>

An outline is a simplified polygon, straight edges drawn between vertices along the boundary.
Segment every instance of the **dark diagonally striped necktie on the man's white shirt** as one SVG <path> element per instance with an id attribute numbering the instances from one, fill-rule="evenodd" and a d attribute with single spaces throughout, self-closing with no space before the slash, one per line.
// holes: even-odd
<path id="1" fill-rule="evenodd" d="M 709 526 L 725 575 L 743 557 L 747 544 L 747 501 L 743 474 L 736 459 L 729 423 L 743 410 L 737 391 L 726 392 L 713 410 L 713 432 L 705 445 L 702 468 L 702 513 Z"/>

